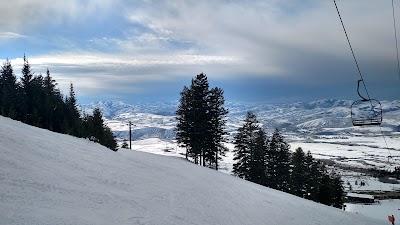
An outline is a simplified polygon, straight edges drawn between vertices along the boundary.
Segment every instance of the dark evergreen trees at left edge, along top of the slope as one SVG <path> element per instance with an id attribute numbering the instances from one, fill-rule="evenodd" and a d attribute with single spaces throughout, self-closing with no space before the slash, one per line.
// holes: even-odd
<path id="1" fill-rule="evenodd" d="M 35 75 L 25 56 L 20 79 L 9 60 L 1 67 L 0 114 L 54 132 L 90 138 L 114 151 L 117 149 L 100 110 L 81 116 L 72 83 L 69 95 L 64 97 L 50 71 L 47 69 L 45 76 Z"/>

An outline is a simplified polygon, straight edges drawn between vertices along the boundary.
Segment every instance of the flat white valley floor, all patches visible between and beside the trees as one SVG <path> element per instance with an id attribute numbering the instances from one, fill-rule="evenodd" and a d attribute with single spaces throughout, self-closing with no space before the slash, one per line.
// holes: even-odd
<path id="1" fill-rule="evenodd" d="M 400 151 L 398 149 L 386 149 L 382 137 L 345 137 L 345 138 L 320 138 L 309 141 L 298 137 L 288 137 L 287 141 L 294 151 L 301 147 L 304 151 L 310 151 L 317 159 L 330 159 L 341 165 L 359 168 L 379 168 L 393 170 L 400 166 Z M 386 139 L 389 146 L 400 146 L 400 136 Z M 223 171 L 230 173 L 234 163 L 234 145 L 225 144 L 230 152 L 223 157 Z M 151 152 L 161 155 L 184 156 L 185 149 L 179 148 L 175 140 L 161 138 L 147 138 L 132 141 L 132 149 Z M 388 156 L 391 155 L 391 158 Z M 225 168 L 228 168 L 226 170 Z"/>

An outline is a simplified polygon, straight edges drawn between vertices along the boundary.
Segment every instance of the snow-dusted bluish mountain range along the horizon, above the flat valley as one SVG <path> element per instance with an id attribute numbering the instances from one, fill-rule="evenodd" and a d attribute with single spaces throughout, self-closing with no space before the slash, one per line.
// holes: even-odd
<path id="1" fill-rule="evenodd" d="M 266 104 L 266 103 L 227 103 L 229 109 L 227 130 L 234 133 L 242 123 L 247 111 L 256 114 L 267 132 L 275 128 L 286 134 L 301 135 L 349 135 L 369 133 L 370 130 L 353 128 L 350 118 L 352 101 L 325 99 L 306 103 Z M 126 123 L 130 120 L 136 125 L 134 139 L 159 137 L 173 139 L 175 136 L 175 110 L 178 102 L 154 102 L 129 105 L 120 101 L 97 102 L 82 105 L 82 111 L 90 112 L 99 107 L 120 138 L 127 138 Z M 382 101 L 383 130 L 400 131 L 400 101 Z"/>

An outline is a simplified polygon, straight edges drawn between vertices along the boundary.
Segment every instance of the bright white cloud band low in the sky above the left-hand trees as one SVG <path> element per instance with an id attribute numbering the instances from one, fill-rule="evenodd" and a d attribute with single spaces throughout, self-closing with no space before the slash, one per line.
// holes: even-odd
<path id="1" fill-rule="evenodd" d="M 140 56 L 70 52 L 45 56 L 28 56 L 36 74 L 49 68 L 61 90 L 68 93 L 69 83 L 75 84 L 78 94 L 104 94 L 106 90 L 139 93 L 149 83 L 172 82 L 183 78 L 190 80 L 205 68 L 218 70 L 235 67 L 240 59 L 213 55 Z M 11 59 L 18 75 L 22 58 Z M 207 70 L 211 71 L 211 70 Z M 222 73 L 222 75 L 227 74 Z"/>

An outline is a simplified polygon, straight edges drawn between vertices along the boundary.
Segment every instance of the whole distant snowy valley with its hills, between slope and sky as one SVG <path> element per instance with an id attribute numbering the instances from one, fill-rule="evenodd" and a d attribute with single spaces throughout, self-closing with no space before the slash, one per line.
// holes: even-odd
<path id="1" fill-rule="evenodd" d="M 301 147 L 316 158 L 342 166 L 393 169 L 400 165 L 400 101 L 381 102 L 381 128 L 352 126 L 351 103 L 331 99 L 294 104 L 228 102 L 225 104 L 229 109 L 226 130 L 230 135 L 226 146 L 233 150 L 229 142 L 247 111 L 252 111 L 267 134 L 279 129 L 293 151 Z M 177 106 L 178 101 L 143 104 L 105 101 L 82 105 L 81 110 L 91 112 L 95 107 L 100 108 L 120 143 L 129 140 L 128 123 L 131 121 L 133 149 L 182 156 L 185 150 L 175 142 Z M 229 152 L 221 165 L 229 173 L 233 163 L 233 153 Z"/>

